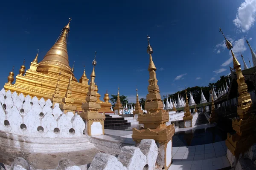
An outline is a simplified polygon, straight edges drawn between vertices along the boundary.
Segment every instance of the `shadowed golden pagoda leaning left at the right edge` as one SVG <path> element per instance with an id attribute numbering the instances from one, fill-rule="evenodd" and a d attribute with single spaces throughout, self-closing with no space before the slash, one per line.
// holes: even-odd
<path id="1" fill-rule="evenodd" d="M 220 32 L 223 32 L 220 29 Z M 252 107 L 252 100 L 250 98 L 250 94 L 247 92 L 247 84 L 244 80 L 244 75 L 241 71 L 241 65 L 237 61 L 233 51 L 232 44 L 223 34 L 227 49 L 231 51 L 233 57 L 233 65 L 234 69 L 236 69 L 237 76 L 237 84 L 238 84 L 238 104 L 237 104 L 237 115 L 239 118 L 233 118 L 232 127 L 233 130 L 236 131 L 234 135 L 227 133 L 226 145 L 228 148 L 227 155 L 231 152 L 231 154 L 235 157 L 235 159 L 229 158 L 231 166 L 233 166 L 234 161 L 237 161 L 239 155 L 246 152 L 253 143 L 256 142 L 256 135 L 254 133 L 254 127 L 256 124 L 255 110 Z"/>

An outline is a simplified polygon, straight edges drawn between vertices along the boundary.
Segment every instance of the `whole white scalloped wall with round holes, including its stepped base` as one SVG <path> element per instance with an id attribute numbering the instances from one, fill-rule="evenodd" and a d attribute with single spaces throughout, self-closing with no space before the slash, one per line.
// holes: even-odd
<path id="1" fill-rule="evenodd" d="M 0 91 L 0 144 L 32 152 L 65 152 L 93 148 L 80 115 L 64 114 L 52 102 Z M 10 142 L 12 141 L 12 142 Z"/>

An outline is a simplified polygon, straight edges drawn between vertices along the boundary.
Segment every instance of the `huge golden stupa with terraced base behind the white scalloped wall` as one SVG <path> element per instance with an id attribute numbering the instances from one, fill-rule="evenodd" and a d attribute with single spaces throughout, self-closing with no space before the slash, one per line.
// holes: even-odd
<path id="1" fill-rule="evenodd" d="M 62 29 L 58 40 L 47 52 L 41 62 L 38 63 L 37 54 L 35 59 L 31 62 L 30 68 L 26 70 L 26 73 L 24 64 L 20 67 L 15 84 L 12 84 L 14 81 L 14 72 L 12 71 L 9 73 L 8 82 L 4 86 L 6 91 L 16 91 L 17 94 L 23 93 L 23 95 L 30 95 L 31 97 L 37 96 L 37 98 L 43 97 L 47 100 L 48 98 L 52 99 L 52 95 L 55 93 L 58 84 L 59 94 L 61 95 L 61 98 L 64 98 L 70 79 L 72 79 L 73 104 L 77 106 L 78 111 L 82 110 L 81 105 L 85 102 L 89 87 L 89 79 L 86 77 L 84 69 L 81 78 L 77 81 L 73 74 L 73 68 L 71 69 L 69 65 L 67 37 L 70 32 L 70 21 L 71 19 Z M 59 79 L 60 81 L 58 81 Z M 112 112 L 110 109 L 111 103 L 108 101 L 100 101 L 99 98 L 101 95 L 97 91 L 98 90 L 96 90 L 97 103 L 101 106 L 99 112 Z"/>

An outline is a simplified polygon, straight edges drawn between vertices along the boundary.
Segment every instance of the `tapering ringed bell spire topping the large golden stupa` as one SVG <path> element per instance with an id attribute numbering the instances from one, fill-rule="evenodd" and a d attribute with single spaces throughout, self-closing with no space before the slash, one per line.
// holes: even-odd
<path id="1" fill-rule="evenodd" d="M 67 37 L 70 32 L 70 21 L 62 29 L 61 35 L 58 37 L 55 44 L 44 56 L 44 59 L 38 63 L 38 72 L 44 72 L 48 69 L 55 69 L 58 71 L 71 74 L 71 68 L 69 66 L 68 54 L 67 54 Z"/>

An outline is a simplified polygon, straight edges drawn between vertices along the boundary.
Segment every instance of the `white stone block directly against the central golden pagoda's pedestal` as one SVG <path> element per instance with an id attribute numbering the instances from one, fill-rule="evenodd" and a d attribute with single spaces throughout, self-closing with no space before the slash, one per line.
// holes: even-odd
<path id="1" fill-rule="evenodd" d="M 154 170 L 157 161 L 158 148 L 153 139 L 143 139 L 138 146 L 141 152 L 147 157 L 148 170 Z"/>

